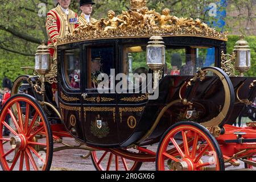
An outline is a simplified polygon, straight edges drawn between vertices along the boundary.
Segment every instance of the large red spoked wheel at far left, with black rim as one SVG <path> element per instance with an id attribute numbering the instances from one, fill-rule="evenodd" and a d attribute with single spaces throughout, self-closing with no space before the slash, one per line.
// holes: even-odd
<path id="1" fill-rule="evenodd" d="M 10 123 L 7 122 L 8 115 Z M 0 114 L 0 131 L 3 126 L 10 130 L 9 137 L 0 132 L 0 162 L 3 170 L 46 171 L 51 168 L 51 127 L 35 98 L 26 94 L 11 97 Z"/>

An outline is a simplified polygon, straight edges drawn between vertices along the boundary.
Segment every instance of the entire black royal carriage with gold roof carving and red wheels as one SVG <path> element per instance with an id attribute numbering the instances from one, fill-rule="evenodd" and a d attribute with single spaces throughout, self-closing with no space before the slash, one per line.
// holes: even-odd
<path id="1" fill-rule="evenodd" d="M 54 151 L 72 148 L 89 151 L 84 158 L 97 170 L 138 170 L 143 162 L 157 170 L 224 170 L 239 160 L 256 166 L 256 124 L 232 126 L 255 98 L 256 78 L 242 77 L 250 68 L 247 42 L 241 38 L 225 55 L 226 32 L 169 13 L 131 1 L 121 15 L 109 11 L 60 38 L 51 61 L 39 46 L 34 75 L 16 79 L 1 110 L 0 129 L 11 131 L 0 133 L 2 169 L 49 170 Z M 137 82 L 134 70 L 144 73 Z"/>

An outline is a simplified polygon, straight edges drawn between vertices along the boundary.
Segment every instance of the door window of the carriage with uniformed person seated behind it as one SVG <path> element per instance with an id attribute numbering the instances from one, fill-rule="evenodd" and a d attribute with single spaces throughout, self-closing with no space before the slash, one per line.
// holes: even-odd
<path id="1" fill-rule="evenodd" d="M 110 77 L 111 69 L 114 69 L 114 46 L 97 46 L 87 48 L 88 89 L 97 89 L 100 81 L 98 75 L 104 73 Z M 104 79 L 102 80 L 104 81 Z M 109 82 L 110 84 L 110 79 Z"/>

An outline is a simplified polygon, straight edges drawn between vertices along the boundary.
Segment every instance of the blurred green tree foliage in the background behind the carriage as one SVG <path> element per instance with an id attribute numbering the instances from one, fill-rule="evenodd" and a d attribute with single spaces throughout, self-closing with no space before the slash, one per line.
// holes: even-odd
<path id="1" fill-rule="evenodd" d="M 72 0 L 70 9 L 80 14 L 80 0 Z M 147 6 L 161 12 L 164 8 L 171 10 L 172 15 L 178 17 L 200 18 L 203 22 L 214 21 L 207 13 L 209 3 L 219 0 L 148 0 Z M 248 24 L 253 24 L 255 31 L 255 0 L 227 0 L 227 12 L 234 12 L 226 16 L 225 30 L 236 30 L 236 34 L 253 35 L 248 31 Z M 94 0 L 96 5 L 93 9 L 93 17 L 100 19 L 106 17 L 108 10 L 115 10 L 121 14 L 122 10 L 129 9 L 129 0 Z M 46 7 L 44 11 L 44 6 Z M 34 65 L 34 54 L 41 40 L 47 40 L 46 16 L 45 14 L 56 6 L 55 0 L 9 0 L 0 3 L 0 81 L 4 76 L 15 80 L 19 75 L 26 74 L 20 69 L 24 66 Z M 220 7 L 221 9 L 222 7 Z M 39 16 L 38 13 L 43 16 Z M 241 22 L 245 26 L 241 26 Z M 238 27 L 237 29 L 234 27 Z M 249 33 L 247 33 L 249 32 Z M 246 73 L 248 76 L 255 76 L 255 36 L 247 36 L 246 40 L 251 47 L 252 68 Z M 233 50 L 234 43 L 238 36 L 229 36 L 228 53 Z M 167 55 L 168 58 L 168 55 Z M 135 63 L 146 64 L 146 63 Z M 170 68 L 170 63 L 167 63 Z M 1 84 L 2 86 L 2 84 Z"/>

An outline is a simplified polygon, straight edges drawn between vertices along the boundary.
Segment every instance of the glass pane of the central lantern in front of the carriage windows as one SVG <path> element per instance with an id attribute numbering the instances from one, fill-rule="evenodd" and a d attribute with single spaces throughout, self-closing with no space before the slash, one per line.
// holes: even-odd
<path id="1" fill-rule="evenodd" d="M 147 47 L 147 63 L 148 64 L 163 64 L 163 47 Z"/>

